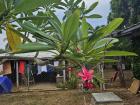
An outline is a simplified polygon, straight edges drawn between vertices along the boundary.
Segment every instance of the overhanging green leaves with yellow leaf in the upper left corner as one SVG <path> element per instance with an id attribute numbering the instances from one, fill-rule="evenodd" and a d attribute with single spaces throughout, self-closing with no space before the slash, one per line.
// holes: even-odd
<path id="1" fill-rule="evenodd" d="M 11 36 L 10 33 L 12 32 L 12 35 L 16 34 L 22 37 L 24 39 L 23 42 L 31 42 L 31 40 L 28 38 L 29 33 L 23 31 L 17 22 L 24 20 L 38 22 L 38 19 L 44 20 L 47 18 L 47 16 L 39 15 L 40 12 L 38 12 L 37 16 L 35 16 L 34 12 L 39 11 L 41 7 L 45 9 L 46 6 L 48 7 L 47 9 L 51 9 L 51 6 L 57 4 L 58 2 L 60 2 L 60 0 L 0 0 L 0 32 L 2 32 L 2 30 L 7 31 L 7 37 Z M 8 39 L 9 42 L 11 38 L 8 37 Z M 14 41 L 11 40 L 10 42 L 13 43 Z M 10 50 L 13 50 L 14 52 L 16 46 L 10 44 L 10 42 Z"/>

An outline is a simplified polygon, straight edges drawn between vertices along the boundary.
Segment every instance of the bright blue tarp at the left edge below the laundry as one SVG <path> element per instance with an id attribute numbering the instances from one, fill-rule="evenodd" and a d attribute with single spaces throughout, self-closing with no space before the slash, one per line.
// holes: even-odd
<path id="1" fill-rule="evenodd" d="M 0 77 L 0 94 L 10 93 L 12 87 L 12 81 L 7 76 Z"/>

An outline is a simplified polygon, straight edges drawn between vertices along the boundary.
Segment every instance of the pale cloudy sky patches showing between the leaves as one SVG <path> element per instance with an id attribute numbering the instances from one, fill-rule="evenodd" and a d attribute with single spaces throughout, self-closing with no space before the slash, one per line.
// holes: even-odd
<path id="1" fill-rule="evenodd" d="M 98 6 L 95 8 L 94 11 L 92 11 L 91 14 L 99 14 L 102 16 L 100 19 L 89 19 L 87 20 L 89 23 L 92 24 L 93 27 L 106 25 L 107 24 L 107 17 L 110 12 L 110 1 L 111 0 L 84 0 L 86 3 L 86 7 L 88 8 L 92 3 L 99 1 Z M 58 17 L 62 17 L 63 13 L 62 11 L 57 11 L 56 15 Z M 3 39 L 5 38 L 5 32 L 0 34 L 0 49 L 4 48 L 6 42 L 3 42 Z"/>

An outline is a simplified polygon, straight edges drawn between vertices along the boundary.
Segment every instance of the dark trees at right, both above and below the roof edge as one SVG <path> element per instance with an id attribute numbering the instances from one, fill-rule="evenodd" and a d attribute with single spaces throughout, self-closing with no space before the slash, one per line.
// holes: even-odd
<path id="1" fill-rule="evenodd" d="M 109 14 L 108 21 L 117 17 L 124 18 L 124 22 L 120 27 L 121 29 L 140 22 L 140 0 L 112 0 L 111 12 Z M 132 40 L 133 43 L 126 37 L 120 38 L 120 42 L 115 45 L 115 49 L 133 51 L 140 55 L 139 38 L 133 38 Z M 127 57 L 125 58 L 125 62 L 129 63 L 129 65 L 131 63 L 137 65 L 137 63 L 140 62 L 139 56 L 133 58 L 133 60 L 132 58 Z M 140 73 L 135 69 L 134 75 L 135 74 L 139 75 Z"/>

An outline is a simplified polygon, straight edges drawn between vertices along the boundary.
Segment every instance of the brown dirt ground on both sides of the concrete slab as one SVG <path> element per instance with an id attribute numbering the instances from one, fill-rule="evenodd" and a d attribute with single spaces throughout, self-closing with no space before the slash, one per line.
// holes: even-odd
<path id="1" fill-rule="evenodd" d="M 140 94 L 127 89 L 109 89 L 120 96 L 125 105 L 140 105 Z M 96 91 L 97 92 L 97 91 Z M 0 105 L 90 105 L 91 94 L 80 90 L 14 92 L 0 95 Z"/>

